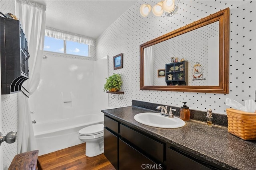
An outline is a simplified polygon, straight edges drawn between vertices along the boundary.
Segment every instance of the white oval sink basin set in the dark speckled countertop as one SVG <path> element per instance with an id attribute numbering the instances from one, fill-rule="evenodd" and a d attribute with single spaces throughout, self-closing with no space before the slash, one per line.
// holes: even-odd
<path id="1" fill-rule="evenodd" d="M 178 128 L 186 124 L 178 117 L 170 118 L 153 112 L 139 113 L 134 116 L 134 119 L 144 125 L 160 128 Z"/>

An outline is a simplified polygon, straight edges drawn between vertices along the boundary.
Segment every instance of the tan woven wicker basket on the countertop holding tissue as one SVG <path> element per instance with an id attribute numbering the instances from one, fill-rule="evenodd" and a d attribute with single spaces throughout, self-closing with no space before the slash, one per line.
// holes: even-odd
<path id="1" fill-rule="evenodd" d="M 244 140 L 256 140 L 256 112 L 226 109 L 228 132 Z"/>

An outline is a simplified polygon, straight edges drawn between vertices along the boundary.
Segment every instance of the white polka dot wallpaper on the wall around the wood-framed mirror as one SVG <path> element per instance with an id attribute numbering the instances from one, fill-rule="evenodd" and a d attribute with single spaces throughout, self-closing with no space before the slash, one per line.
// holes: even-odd
<path id="1" fill-rule="evenodd" d="M 109 95 L 110 106 L 131 106 L 132 100 L 178 107 L 182 105 L 181 102 L 188 102 L 190 109 L 206 111 L 211 108 L 214 113 L 226 114 L 226 98 L 241 104 L 247 99 L 254 99 L 256 1 L 180 0 L 178 12 L 172 17 L 157 17 L 152 12 L 147 17 L 140 15 L 139 8 L 142 4 L 156 3 L 157 1 L 137 1 L 96 41 L 97 57 L 110 56 L 109 75 L 122 74 L 123 100 L 111 99 Z M 141 44 L 225 8 L 230 8 L 229 94 L 140 90 Z M 180 48 L 183 48 L 182 45 Z M 120 53 L 123 53 L 123 68 L 114 70 L 112 57 Z M 180 56 L 183 55 L 186 54 Z"/>

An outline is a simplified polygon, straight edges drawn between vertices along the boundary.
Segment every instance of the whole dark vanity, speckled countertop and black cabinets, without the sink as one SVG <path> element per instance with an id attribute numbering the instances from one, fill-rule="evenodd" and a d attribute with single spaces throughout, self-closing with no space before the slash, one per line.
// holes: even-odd
<path id="1" fill-rule="evenodd" d="M 151 109 L 154 105 L 133 101 L 132 106 L 102 110 L 104 154 L 117 170 L 255 170 L 256 157 L 250 153 L 256 152 L 256 141 L 244 141 L 226 127 L 207 127 L 193 119 L 175 129 L 150 127 L 134 119 L 138 113 L 156 112 Z"/>

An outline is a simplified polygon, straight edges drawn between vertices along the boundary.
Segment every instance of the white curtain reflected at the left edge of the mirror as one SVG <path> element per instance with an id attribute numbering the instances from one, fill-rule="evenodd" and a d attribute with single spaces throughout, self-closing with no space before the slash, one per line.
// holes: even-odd
<path id="1" fill-rule="evenodd" d="M 144 49 L 144 85 L 153 86 L 154 83 L 154 48 L 153 46 Z"/>

